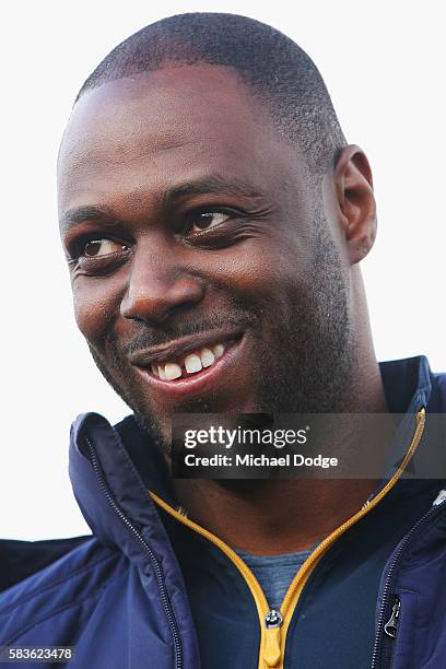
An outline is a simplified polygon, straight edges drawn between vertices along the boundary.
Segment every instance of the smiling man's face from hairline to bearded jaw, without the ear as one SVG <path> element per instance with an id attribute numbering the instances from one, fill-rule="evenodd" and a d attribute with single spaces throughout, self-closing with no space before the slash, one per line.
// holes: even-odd
<path id="1" fill-rule="evenodd" d="M 324 202 L 298 149 L 224 68 L 165 68 L 75 105 L 59 210 L 77 321 L 164 439 L 176 411 L 341 400 L 348 269 Z"/>

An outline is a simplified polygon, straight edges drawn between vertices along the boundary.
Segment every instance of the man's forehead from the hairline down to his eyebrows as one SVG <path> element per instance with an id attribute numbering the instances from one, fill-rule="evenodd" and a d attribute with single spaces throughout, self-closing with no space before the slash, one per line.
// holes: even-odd
<path id="1" fill-rule="evenodd" d="M 207 172 L 268 188 L 295 167 L 295 154 L 228 68 L 165 68 L 81 97 L 60 150 L 59 197 L 67 209 L 92 190 L 172 188 Z"/>

